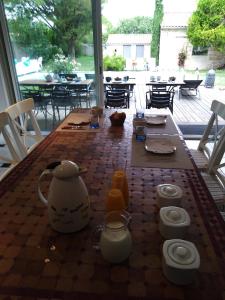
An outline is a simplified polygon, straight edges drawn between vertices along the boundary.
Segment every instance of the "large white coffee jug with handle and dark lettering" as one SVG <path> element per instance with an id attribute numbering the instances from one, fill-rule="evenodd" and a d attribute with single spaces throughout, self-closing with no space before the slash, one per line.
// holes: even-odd
<path id="1" fill-rule="evenodd" d="M 90 203 L 88 191 L 80 175 L 81 170 L 72 161 L 61 161 L 50 164 L 39 177 L 38 195 L 48 206 L 49 222 L 59 232 L 75 232 L 89 222 Z M 44 175 L 52 174 L 48 199 L 40 190 L 40 180 Z"/>

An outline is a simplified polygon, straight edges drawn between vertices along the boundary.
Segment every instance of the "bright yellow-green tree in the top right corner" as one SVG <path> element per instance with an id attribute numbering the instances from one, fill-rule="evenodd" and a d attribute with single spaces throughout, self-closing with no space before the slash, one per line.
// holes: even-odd
<path id="1" fill-rule="evenodd" d="M 225 1 L 199 0 L 187 30 L 188 39 L 194 46 L 211 46 L 225 49 Z"/>

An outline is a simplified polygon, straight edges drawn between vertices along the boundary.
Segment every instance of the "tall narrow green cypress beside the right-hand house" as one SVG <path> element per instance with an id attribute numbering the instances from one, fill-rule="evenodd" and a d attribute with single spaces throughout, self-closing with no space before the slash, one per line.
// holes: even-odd
<path id="1" fill-rule="evenodd" d="M 152 27 L 151 56 L 159 63 L 160 25 L 163 19 L 163 1 L 155 0 L 155 11 Z"/>

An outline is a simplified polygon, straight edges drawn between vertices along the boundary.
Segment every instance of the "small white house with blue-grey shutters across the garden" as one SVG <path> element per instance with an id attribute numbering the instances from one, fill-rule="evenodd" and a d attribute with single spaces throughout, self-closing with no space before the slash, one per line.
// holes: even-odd
<path id="1" fill-rule="evenodd" d="M 151 34 L 110 34 L 104 56 L 123 56 L 126 59 L 127 70 L 144 70 L 152 64 L 150 51 Z"/>

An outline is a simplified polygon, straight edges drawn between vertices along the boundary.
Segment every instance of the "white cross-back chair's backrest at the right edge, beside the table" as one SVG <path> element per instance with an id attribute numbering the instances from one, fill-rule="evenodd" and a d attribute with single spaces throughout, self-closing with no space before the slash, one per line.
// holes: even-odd
<path id="1" fill-rule="evenodd" d="M 209 160 L 208 172 L 219 174 L 219 169 L 224 165 L 225 153 L 225 125 L 219 126 L 219 118 L 225 120 L 225 104 L 214 100 L 211 111 L 212 115 L 200 140 L 198 150 L 203 151 Z"/>

